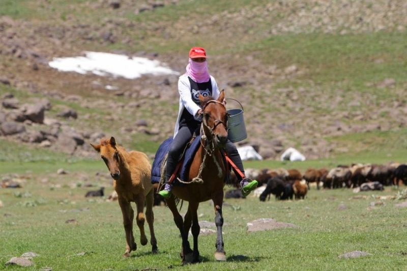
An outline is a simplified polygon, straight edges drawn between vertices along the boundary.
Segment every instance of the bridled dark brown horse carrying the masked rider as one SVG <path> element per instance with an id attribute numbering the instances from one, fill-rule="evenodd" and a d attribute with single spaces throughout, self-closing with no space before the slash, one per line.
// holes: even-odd
<path id="1" fill-rule="evenodd" d="M 189 178 L 184 185 L 175 185 L 172 196 L 167 199 L 175 224 L 182 237 L 181 257 L 182 263 L 199 262 L 197 209 L 200 202 L 212 200 L 215 208 L 215 224 L 217 227 L 215 259 L 226 260 L 223 250 L 222 237 L 222 202 L 223 187 L 225 185 L 226 170 L 220 152 L 227 142 L 227 111 L 223 104 L 224 92 L 220 92 L 217 100 L 212 97 L 204 98 L 199 95 L 202 105 L 202 124 L 200 128 L 200 147 L 194 156 L 189 170 Z M 188 202 L 188 210 L 184 221 L 177 209 L 177 200 Z M 192 229 L 191 229 L 192 226 Z M 193 250 L 188 241 L 188 232 L 191 229 L 193 236 Z"/>

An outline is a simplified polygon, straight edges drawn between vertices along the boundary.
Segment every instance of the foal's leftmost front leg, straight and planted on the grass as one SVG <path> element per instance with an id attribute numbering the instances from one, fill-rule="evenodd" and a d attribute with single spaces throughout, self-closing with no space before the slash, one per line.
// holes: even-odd
<path id="1" fill-rule="evenodd" d="M 130 257 L 130 252 L 137 249 L 133 236 L 134 212 L 130 202 L 127 202 L 123 198 L 119 198 L 118 201 L 120 209 L 122 210 L 124 231 L 126 232 L 126 251 L 123 256 Z"/>

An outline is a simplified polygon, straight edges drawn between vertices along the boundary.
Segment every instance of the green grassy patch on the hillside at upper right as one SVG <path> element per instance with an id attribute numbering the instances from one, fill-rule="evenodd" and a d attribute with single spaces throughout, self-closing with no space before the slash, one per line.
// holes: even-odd
<path id="1" fill-rule="evenodd" d="M 317 84 L 346 82 L 353 91 L 366 91 L 366 83 L 389 77 L 405 82 L 405 41 L 405 35 L 387 32 L 276 35 L 245 44 L 240 51 L 256 52 L 259 60 L 281 67 L 296 64 L 306 70 L 299 78 L 302 80 Z"/>

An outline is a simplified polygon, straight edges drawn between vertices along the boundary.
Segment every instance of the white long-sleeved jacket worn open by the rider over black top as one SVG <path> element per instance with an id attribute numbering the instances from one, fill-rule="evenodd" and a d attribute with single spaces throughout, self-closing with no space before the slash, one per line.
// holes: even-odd
<path id="1" fill-rule="evenodd" d="M 217 99 L 219 97 L 219 88 L 218 84 L 216 83 L 215 78 L 211 75 L 211 84 L 212 84 L 212 97 L 214 99 Z M 178 92 L 180 93 L 180 107 L 178 110 L 178 118 L 177 122 L 175 124 L 175 129 L 174 129 L 174 137 L 177 135 L 178 130 L 180 128 L 180 119 L 182 112 L 185 109 L 188 110 L 188 112 L 196 117 L 196 114 L 198 113 L 199 105 L 197 105 L 191 97 L 191 84 L 189 83 L 188 75 L 183 74 L 179 77 L 178 79 Z"/>

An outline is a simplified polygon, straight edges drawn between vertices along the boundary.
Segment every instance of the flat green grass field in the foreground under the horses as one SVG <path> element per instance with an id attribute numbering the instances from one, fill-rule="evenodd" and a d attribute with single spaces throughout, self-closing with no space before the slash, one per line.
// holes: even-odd
<path id="1" fill-rule="evenodd" d="M 199 237 L 202 262 L 181 266 L 181 239 L 168 208 L 154 207 L 159 253 L 151 254 L 150 245 L 141 247 L 130 258 L 122 257 L 125 235 L 117 202 L 85 198 L 78 174 L 90 176 L 88 182 L 112 187 L 108 178 L 96 180 L 91 169 L 67 175 L 26 173 L 22 188 L 0 189 L 0 269 L 12 257 L 35 252 L 33 267 L 24 270 L 405 270 L 405 208 L 395 208 L 402 201 L 380 199 L 397 194 L 386 187 L 383 192 L 354 194 L 351 189 L 317 191 L 312 187 L 305 200 L 260 202 L 246 199 L 225 200 L 223 227 L 226 262 L 214 260 L 216 235 Z M 83 184 L 83 181 L 82 181 Z M 228 189 L 226 187 L 226 189 Z M 340 205 L 345 209 L 340 209 Z M 185 211 L 184 205 L 181 212 Z M 199 220 L 214 222 L 211 202 L 201 203 Z M 246 224 L 270 218 L 293 223 L 295 229 L 247 232 Z M 74 220 L 67 223 L 68 220 Z M 215 228 L 213 228 L 215 229 Z M 148 236 L 149 233 L 148 233 Z M 190 240 L 192 242 L 192 240 Z M 351 251 L 372 255 L 339 259 Z"/>

